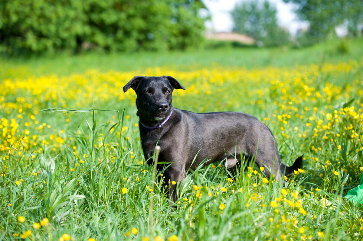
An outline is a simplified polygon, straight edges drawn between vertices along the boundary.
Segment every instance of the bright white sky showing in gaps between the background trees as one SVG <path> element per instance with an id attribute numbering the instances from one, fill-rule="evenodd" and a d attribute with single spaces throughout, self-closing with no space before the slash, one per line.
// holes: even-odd
<path id="1" fill-rule="evenodd" d="M 207 22 L 208 29 L 216 32 L 231 32 L 233 29 L 233 21 L 230 12 L 236 5 L 243 0 L 203 0 L 205 6 L 212 15 L 212 21 Z M 289 29 L 291 34 L 295 34 L 299 28 L 306 28 L 306 22 L 299 21 L 294 13 L 294 5 L 286 4 L 282 0 L 269 0 L 270 3 L 276 5 L 277 18 L 280 26 Z"/>

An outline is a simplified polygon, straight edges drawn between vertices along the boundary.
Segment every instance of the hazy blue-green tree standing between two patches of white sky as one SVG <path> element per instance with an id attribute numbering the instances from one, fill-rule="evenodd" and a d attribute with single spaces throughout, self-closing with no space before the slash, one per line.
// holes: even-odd
<path id="1" fill-rule="evenodd" d="M 289 32 L 277 24 L 276 7 L 269 1 L 244 1 L 231 12 L 233 31 L 247 34 L 264 46 L 279 46 L 289 42 Z"/>

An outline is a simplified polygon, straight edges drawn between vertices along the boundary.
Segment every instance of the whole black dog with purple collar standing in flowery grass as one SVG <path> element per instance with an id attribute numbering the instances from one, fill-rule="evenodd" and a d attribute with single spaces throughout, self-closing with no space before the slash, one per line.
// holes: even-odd
<path id="1" fill-rule="evenodd" d="M 140 137 L 146 160 L 155 146 L 161 147 L 159 161 L 173 162 L 164 173 L 166 181 L 181 181 L 186 171 L 205 161 L 224 161 L 236 173 L 242 159 L 255 159 L 266 175 L 276 180 L 302 166 L 302 156 L 291 167 L 280 159 L 270 129 L 256 117 L 238 112 L 193 113 L 173 108 L 172 91 L 185 88 L 171 76 L 135 76 L 123 87 L 136 92 Z M 193 162 L 193 159 L 195 158 Z M 151 160 L 152 161 L 152 160 Z M 176 185 L 170 187 L 170 200 L 177 200 Z"/>

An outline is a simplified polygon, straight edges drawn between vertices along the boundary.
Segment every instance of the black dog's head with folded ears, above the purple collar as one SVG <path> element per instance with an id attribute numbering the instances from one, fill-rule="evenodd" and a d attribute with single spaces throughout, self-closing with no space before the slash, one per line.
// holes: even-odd
<path id="1" fill-rule="evenodd" d="M 146 121 L 165 119 L 171 111 L 173 90 L 185 90 L 171 76 L 135 76 L 123 87 L 123 92 L 129 90 L 129 88 L 132 88 L 137 95 L 138 115 Z"/>

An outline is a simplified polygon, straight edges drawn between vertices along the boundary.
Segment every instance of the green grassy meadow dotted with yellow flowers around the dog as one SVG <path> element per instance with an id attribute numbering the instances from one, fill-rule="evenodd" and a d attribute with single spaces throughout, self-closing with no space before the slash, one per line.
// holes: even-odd
<path id="1" fill-rule="evenodd" d="M 363 174 L 361 44 L 2 59 L 0 240 L 362 240 L 344 198 Z M 122 91 L 134 75 L 176 78 L 176 108 L 256 116 L 303 168 L 283 184 L 200 167 L 172 208 Z"/>

